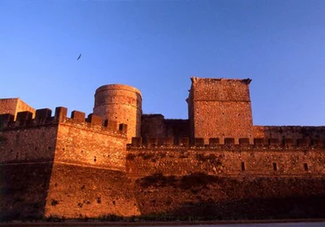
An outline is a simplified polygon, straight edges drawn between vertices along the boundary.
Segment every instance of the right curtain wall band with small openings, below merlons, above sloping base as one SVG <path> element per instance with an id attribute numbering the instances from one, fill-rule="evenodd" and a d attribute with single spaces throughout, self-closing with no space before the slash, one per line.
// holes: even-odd
<path id="1" fill-rule="evenodd" d="M 325 174 L 323 149 L 130 149 L 126 170 L 131 176 L 317 176 Z"/>

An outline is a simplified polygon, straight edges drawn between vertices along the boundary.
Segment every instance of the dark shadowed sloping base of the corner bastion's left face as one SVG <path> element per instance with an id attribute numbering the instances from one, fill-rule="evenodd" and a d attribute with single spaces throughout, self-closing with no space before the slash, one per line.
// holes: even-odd
<path id="1" fill-rule="evenodd" d="M 52 162 L 0 166 L 0 222 L 42 219 Z"/>

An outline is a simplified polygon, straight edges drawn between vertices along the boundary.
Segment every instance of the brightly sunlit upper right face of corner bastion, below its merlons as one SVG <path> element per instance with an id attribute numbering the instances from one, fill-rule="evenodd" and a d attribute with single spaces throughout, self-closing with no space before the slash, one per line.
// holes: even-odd
<path id="1" fill-rule="evenodd" d="M 59 123 L 55 161 L 123 170 L 125 135 L 88 127 L 87 123 Z"/>

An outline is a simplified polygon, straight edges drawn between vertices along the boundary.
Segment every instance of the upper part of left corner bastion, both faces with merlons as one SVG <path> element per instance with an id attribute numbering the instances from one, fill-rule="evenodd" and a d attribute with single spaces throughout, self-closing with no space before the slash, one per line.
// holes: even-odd
<path id="1" fill-rule="evenodd" d="M 1 115 L 0 162 L 59 161 L 125 169 L 126 125 L 111 122 L 102 125 L 99 116 L 74 111 L 67 118 L 67 108 L 58 107 L 18 114 Z M 4 121 L 6 120 L 6 121 Z M 86 121 L 87 120 L 87 121 Z"/>

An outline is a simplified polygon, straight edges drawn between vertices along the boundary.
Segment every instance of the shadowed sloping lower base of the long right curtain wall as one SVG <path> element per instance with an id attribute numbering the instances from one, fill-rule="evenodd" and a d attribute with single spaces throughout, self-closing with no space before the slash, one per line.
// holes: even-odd
<path id="1" fill-rule="evenodd" d="M 199 216 L 202 220 L 325 216 L 321 177 L 154 175 L 137 180 L 136 197 L 142 215 Z"/>

